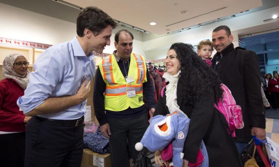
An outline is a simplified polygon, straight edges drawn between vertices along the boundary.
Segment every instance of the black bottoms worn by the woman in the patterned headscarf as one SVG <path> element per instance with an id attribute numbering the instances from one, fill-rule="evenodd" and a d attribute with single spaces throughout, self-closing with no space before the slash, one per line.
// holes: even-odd
<path id="1" fill-rule="evenodd" d="M 0 135 L 0 166 L 23 167 L 25 132 Z"/>

